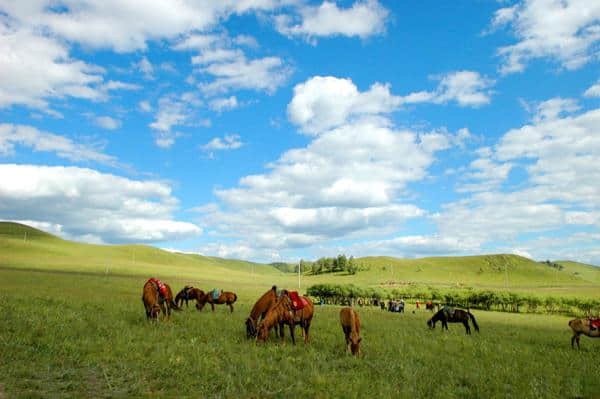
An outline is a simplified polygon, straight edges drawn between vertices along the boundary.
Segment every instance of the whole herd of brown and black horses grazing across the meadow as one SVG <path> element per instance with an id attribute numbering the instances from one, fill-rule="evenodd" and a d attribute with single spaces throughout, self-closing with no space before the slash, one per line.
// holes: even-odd
<path id="1" fill-rule="evenodd" d="M 157 320 L 162 312 L 164 317 L 169 319 L 171 310 L 179 311 L 185 301 L 196 301 L 196 309 L 202 310 L 206 303 L 210 303 L 211 309 L 215 311 L 215 305 L 225 304 L 233 312 L 233 304 L 237 300 L 237 295 L 229 291 L 215 293 L 213 291 L 204 292 L 199 288 L 185 286 L 175 298 L 168 284 L 160 290 L 156 279 L 150 279 L 144 284 L 142 301 L 146 309 L 146 317 L 149 320 Z M 159 281 L 159 284 L 160 281 Z M 166 288 L 166 289 L 165 289 Z M 287 290 L 277 290 L 276 286 L 271 287 L 254 304 L 250 315 L 245 321 L 246 337 L 253 338 L 256 342 L 264 342 L 268 339 L 270 331 L 274 329 L 275 334 L 279 333 L 281 340 L 284 340 L 284 326 L 288 326 L 292 343 L 296 343 L 294 329 L 296 325 L 300 326 L 300 332 L 304 337 L 304 342 L 309 342 L 309 330 L 314 314 L 314 304 L 306 296 L 296 297 L 294 292 Z M 297 302 L 301 302 L 299 306 Z M 430 329 L 435 328 L 436 322 L 442 323 L 442 330 L 448 330 L 448 323 L 462 323 L 466 334 L 471 334 L 469 321 L 473 324 L 475 331 L 479 332 L 479 325 L 475 316 L 468 310 L 447 308 L 438 310 L 428 321 L 427 326 Z M 580 335 L 597 338 L 600 337 L 600 328 L 595 327 L 598 320 L 590 318 L 573 319 L 569 321 L 569 327 L 573 331 L 571 346 L 577 343 L 579 348 Z M 340 324 L 344 332 L 346 341 L 346 351 L 354 355 L 360 354 L 360 318 L 358 313 L 351 307 L 344 307 L 340 310 Z"/>

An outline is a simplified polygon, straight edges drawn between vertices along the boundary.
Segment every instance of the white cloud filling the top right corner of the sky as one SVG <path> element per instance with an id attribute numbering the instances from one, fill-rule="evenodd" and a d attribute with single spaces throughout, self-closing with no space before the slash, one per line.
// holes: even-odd
<path id="1" fill-rule="evenodd" d="M 525 0 L 495 14 L 492 28 L 509 25 L 518 42 L 501 47 L 502 73 L 521 72 L 536 58 L 576 69 L 594 56 L 600 40 L 600 3 L 588 0 Z"/>

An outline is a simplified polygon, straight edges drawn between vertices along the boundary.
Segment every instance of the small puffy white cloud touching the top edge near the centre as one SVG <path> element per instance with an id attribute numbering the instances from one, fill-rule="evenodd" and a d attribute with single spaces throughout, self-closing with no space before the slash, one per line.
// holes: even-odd
<path id="1" fill-rule="evenodd" d="M 299 8 L 299 18 L 280 15 L 275 18 L 276 29 L 284 35 L 302 36 L 309 40 L 324 36 L 368 36 L 385 31 L 389 11 L 377 0 L 357 1 L 346 9 L 335 2 L 324 1 L 320 6 Z M 300 21 L 298 22 L 298 19 Z"/>

